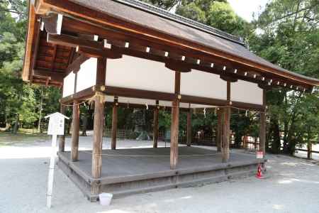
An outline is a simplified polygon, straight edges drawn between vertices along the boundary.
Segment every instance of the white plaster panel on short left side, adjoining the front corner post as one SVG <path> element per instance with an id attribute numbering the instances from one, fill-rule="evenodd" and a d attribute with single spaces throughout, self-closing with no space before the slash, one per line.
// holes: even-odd
<path id="1" fill-rule="evenodd" d="M 96 58 L 90 58 L 81 65 L 77 72 L 77 92 L 96 84 L 96 65 Z"/>

